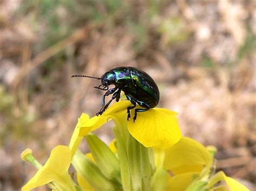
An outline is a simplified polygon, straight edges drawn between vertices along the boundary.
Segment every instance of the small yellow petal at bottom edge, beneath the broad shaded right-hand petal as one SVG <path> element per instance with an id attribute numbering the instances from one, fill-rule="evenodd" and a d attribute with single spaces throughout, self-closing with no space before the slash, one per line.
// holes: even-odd
<path id="1" fill-rule="evenodd" d="M 171 177 L 167 174 L 167 189 L 172 191 L 183 191 L 199 176 L 199 173 L 183 173 Z"/>

